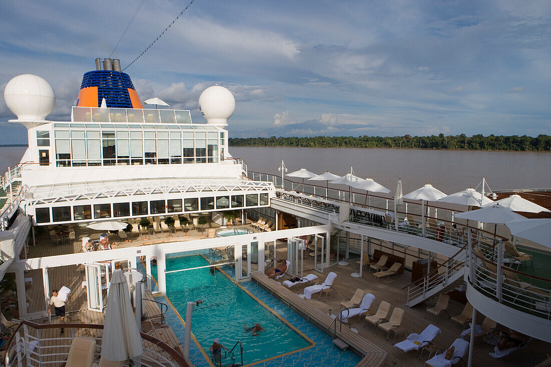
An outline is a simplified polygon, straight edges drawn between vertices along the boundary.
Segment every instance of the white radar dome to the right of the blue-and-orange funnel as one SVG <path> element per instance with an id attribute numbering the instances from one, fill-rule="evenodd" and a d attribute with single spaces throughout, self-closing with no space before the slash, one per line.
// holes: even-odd
<path id="1" fill-rule="evenodd" d="M 234 114 L 235 98 L 231 92 L 220 85 L 213 85 L 199 96 L 199 111 L 209 123 L 228 123 Z"/>

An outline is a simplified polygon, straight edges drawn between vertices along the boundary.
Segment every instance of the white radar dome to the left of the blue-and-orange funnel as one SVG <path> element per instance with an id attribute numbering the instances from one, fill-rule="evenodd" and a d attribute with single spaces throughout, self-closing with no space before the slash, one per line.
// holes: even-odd
<path id="1" fill-rule="evenodd" d="M 38 75 L 21 74 L 6 84 L 4 100 L 21 121 L 43 121 L 56 105 L 56 93 Z"/>

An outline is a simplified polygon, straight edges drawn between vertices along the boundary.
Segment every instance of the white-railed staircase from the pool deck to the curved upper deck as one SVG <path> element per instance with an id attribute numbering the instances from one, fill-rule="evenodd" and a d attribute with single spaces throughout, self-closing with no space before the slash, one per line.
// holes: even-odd
<path id="1" fill-rule="evenodd" d="M 449 260 L 442 263 L 424 278 L 407 285 L 408 299 L 406 305 L 413 307 L 433 296 L 450 292 L 465 284 L 463 276 L 467 268 L 465 266 L 467 258 L 467 245 L 465 245 Z"/>

